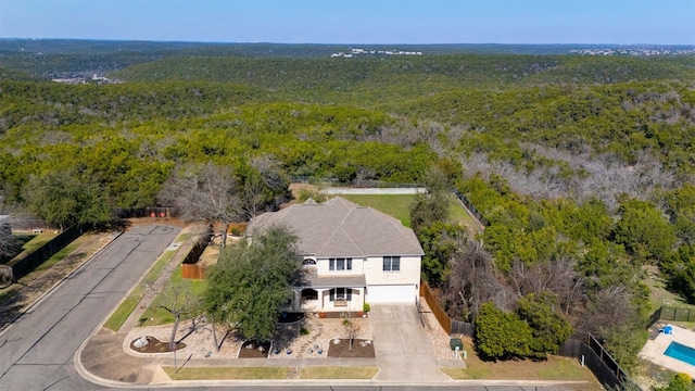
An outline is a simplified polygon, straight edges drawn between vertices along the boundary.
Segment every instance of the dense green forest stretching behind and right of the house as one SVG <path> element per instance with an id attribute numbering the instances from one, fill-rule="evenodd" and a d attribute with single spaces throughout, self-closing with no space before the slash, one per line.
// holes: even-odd
<path id="1" fill-rule="evenodd" d="M 424 278 L 456 318 L 558 308 L 630 367 L 645 267 L 695 303 L 692 55 L 66 48 L 0 50 L 0 214 L 103 224 L 225 177 L 242 206 L 205 216 L 232 222 L 278 207 L 292 176 L 417 182 Z M 48 79 L 97 70 L 117 83 Z M 490 225 L 448 224 L 438 189 Z"/>

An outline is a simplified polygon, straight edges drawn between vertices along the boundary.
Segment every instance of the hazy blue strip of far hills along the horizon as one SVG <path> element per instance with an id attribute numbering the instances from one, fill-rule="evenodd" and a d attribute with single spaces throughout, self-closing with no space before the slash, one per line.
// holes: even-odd
<path id="1" fill-rule="evenodd" d="M 177 58 L 174 63 L 186 58 L 235 58 L 235 59 L 301 59 L 328 60 L 336 53 L 351 53 L 358 49 L 361 54 L 354 59 L 344 60 L 396 60 L 397 55 L 386 55 L 384 52 L 417 52 L 422 56 L 451 56 L 460 54 L 501 55 L 522 54 L 533 56 L 548 56 L 571 53 L 581 54 L 611 54 L 630 56 L 641 54 L 673 54 L 694 53 L 693 47 L 669 46 L 586 46 L 586 45 L 281 45 L 281 43 L 215 43 L 215 42 L 153 42 L 153 41 L 104 41 L 104 40 L 71 40 L 71 39 L 0 39 L 0 66 L 22 70 L 34 76 L 45 78 L 75 77 L 91 74 L 103 75 L 108 72 L 119 71 L 135 64 L 143 64 L 156 60 Z M 381 53 L 381 54 L 374 54 Z M 580 55 L 572 55 L 580 56 Z M 582 55 L 594 56 L 594 55 Z M 685 55 L 659 55 L 659 58 L 683 58 Z M 692 59 L 692 58 L 691 58 Z M 410 59 L 412 60 L 412 59 Z M 202 60 L 204 61 L 204 60 Z M 440 60 L 435 60 L 438 62 Z M 532 60 L 538 61 L 538 60 Z M 555 61 L 555 60 L 553 60 Z M 431 62 L 431 61 L 429 61 Z M 184 66 L 191 66 L 189 60 Z M 162 64 L 157 64 L 160 66 Z M 302 64 L 304 66 L 305 64 Z M 504 65 L 504 64 L 503 64 Z M 172 67 L 166 65 L 167 67 Z M 217 66 L 217 65 L 214 65 Z M 363 65 L 359 65 L 363 66 Z M 408 66 L 407 63 L 405 66 Z M 417 65 L 415 65 L 417 68 Z M 177 66 L 175 65 L 174 68 Z M 321 71 L 311 66 L 307 71 Z M 502 67 L 504 70 L 504 66 Z M 170 72 L 168 70 L 167 72 Z M 191 71 L 191 70 L 189 70 Z M 375 68 L 380 72 L 381 70 Z M 410 70 L 412 71 L 412 70 Z M 446 68 L 451 73 L 452 70 Z M 485 70 L 488 72 L 489 70 Z M 492 70 L 497 71 L 497 70 Z M 515 70 L 513 70 L 515 71 Z M 521 70 L 523 71 L 523 70 Z M 528 71 L 528 70 L 527 70 Z M 142 71 L 138 71 L 140 76 Z M 456 71 L 454 71 L 454 74 Z M 528 73 L 528 72 L 527 72 Z M 226 81 L 227 79 L 207 74 L 207 80 Z M 431 72 L 430 72 L 431 75 Z M 525 74 L 522 74 L 525 75 Z M 186 78 L 186 71 L 177 70 L 173 76 Z M 334 75 L 333 75 L 334 76 Z M 493 76 L 495 74 L 493 73 Z M 505 76 L 505 75 L 501 75 Z M 526 76 L 526 75 L 525 75 Z M 518 73 L 510 73 L 507 77 L 519 78 Z M 180 78 L 180 79 L 184 79 Z M 190 77 L 188 77 L 190 78 Z"/>

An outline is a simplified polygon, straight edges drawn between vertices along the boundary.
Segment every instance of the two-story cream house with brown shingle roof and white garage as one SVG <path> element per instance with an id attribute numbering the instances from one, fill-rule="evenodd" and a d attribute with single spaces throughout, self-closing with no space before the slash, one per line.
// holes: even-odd
<path id="1" fill-rule="evenodd" d="M 250 230 L 283 224 L 298 235 L 306 282 L 293 311 L 362 311 L 364 303 L 415 303 L 422 248 L 410 228 L 337 197 L 255 217 Z"/>

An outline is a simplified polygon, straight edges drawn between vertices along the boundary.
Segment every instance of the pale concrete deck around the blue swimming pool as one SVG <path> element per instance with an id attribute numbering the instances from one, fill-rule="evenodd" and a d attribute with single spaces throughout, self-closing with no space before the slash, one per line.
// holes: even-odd
<path id="1" fill-rule="evenodd" d="M 695 378 L 695 366 L 664 354 L 671 342 L 678 342 L 695 349 L 695 332 L 679 326 L 671 326 L 673 327 L 673 333 L 665 335 L 664 332 L 659 332 L 655 339 L 649 339 L 644 348 L 642 348 L 642 351 L 640 351 L 640 357 L 675 373 L 687 374 Z"/>

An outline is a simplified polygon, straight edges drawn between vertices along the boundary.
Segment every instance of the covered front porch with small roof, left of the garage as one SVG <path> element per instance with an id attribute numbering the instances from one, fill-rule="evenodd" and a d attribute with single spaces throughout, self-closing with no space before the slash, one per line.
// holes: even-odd
<path id="1" fill-rule="evenodd" d="M 307 275 L 306 283 L 293 289 L 291 307 L 296 312 L 357 312 L 363 310 L 365 292 L 364 275 Z"/>

